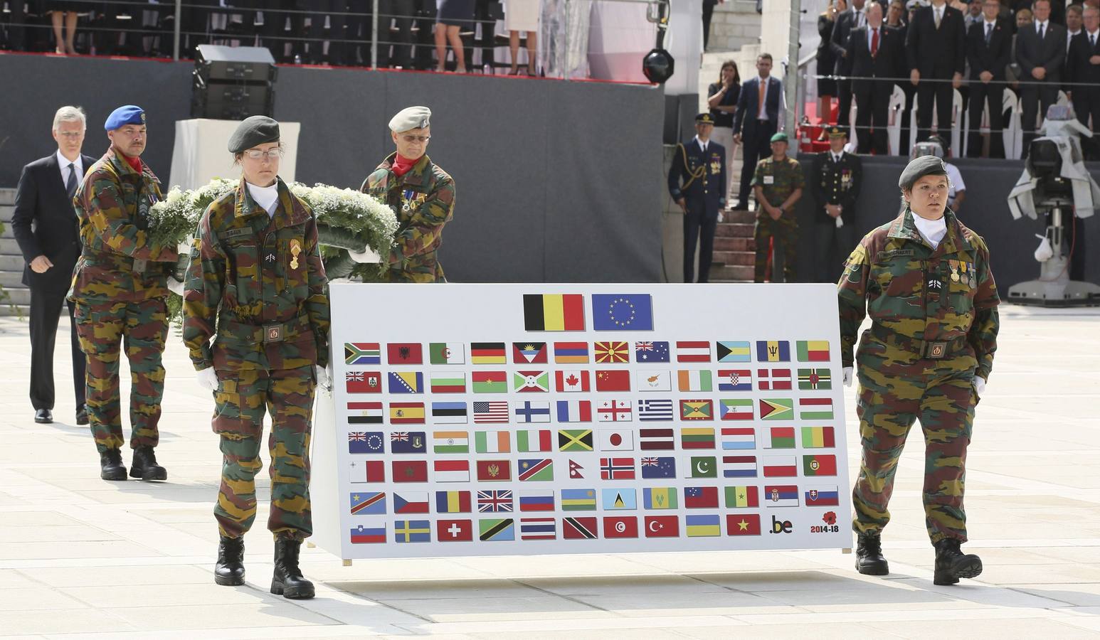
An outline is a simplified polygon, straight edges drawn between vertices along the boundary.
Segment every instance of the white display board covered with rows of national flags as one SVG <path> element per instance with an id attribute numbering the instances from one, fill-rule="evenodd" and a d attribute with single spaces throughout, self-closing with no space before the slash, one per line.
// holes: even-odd
<path id="1" fill-rule="evenodd" d="M 846 549 L 831 285 L 331 286 L 342 559 Z"/>

